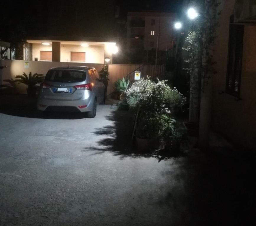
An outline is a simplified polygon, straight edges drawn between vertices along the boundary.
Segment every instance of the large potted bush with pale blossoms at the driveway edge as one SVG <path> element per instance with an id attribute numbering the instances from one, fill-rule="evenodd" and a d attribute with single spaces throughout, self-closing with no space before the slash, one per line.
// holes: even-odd
<path id="1" fill-rule="evenodd" d="M 140 79 L 126 91 L 129 107 L 137 109 L 134 130 L 139 149 L 163 149 L 165 141 L 174 138 L 176 121 L 167 112 L 185 102 L 180 93 L 177 93 L 180 98 L 170 98 L 176 91 L 166 81 L 155 83 L 149 78 Z"/>

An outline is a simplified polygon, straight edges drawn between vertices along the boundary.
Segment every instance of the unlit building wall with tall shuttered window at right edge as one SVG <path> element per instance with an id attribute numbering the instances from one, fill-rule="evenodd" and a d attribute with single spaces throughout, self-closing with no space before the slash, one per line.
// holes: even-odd
<path id="1" fill-rule="evenodd" d="M 256 3 L 223 0 L 214 51 L 212 126 L 256 149 Z"/>

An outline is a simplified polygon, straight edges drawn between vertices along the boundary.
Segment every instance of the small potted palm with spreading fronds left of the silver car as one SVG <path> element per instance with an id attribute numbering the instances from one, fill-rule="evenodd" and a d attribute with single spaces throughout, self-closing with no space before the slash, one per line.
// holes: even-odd
<path id="1" fill-rule="evenodd" d="M 42 83 L 44 80 L 43 74 L 35 73 L 32 75 L 31 72 L 29 72 L 28 76 L 25 72 L 23 72 L 22 75 L 16 75 L 15 78 L 16 79 L 14 80 L 14 82 L 19 82 L 19 84 L 23 83 L 27 85 L 27 95 L 29 97 L 35 97 L 37 90 L 35 85 Z"/>

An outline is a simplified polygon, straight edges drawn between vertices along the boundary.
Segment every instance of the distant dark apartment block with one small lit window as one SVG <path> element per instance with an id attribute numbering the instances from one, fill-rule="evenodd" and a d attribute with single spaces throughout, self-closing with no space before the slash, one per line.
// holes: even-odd
<path id="1" fill-rule="evenodd" d="M 175 13 L 128 12 L 127 50 L 156 49 L 166 51 L 174 38 Z"/>

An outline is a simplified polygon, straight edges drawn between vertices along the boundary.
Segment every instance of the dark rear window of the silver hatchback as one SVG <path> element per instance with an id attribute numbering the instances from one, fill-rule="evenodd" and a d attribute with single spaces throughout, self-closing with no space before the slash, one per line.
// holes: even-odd
<path id="1" fill-rule="evenodd" d="M 51 82 L 82 82 L 86 79 L 86 72 L 76 70 L 49 70 L 45 80 Z"/>

